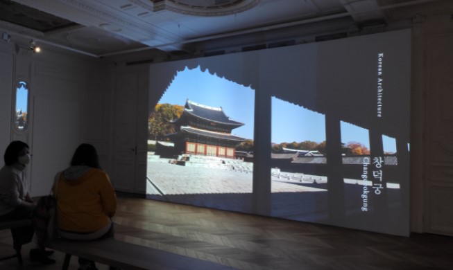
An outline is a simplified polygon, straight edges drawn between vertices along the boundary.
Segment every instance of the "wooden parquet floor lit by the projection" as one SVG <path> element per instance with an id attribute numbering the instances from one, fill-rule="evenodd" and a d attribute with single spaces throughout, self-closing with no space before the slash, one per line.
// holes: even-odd
<path id="1" fill-rule="evenodd" d="M 398 237 L 127 195 L 119 195 L 115 221 L 119 240 L 235 269 L 453 269 L 453 237 L 441 235 Z M 12 253 L 11 242 L 9 231 L 0 231 L 0 257 Z M 22 267 L 10 259 L 0 269 L 61 268 L 63 254 L 53 255 L 57 264 L 41 266 L 28 260 L 29 249 Z"/>

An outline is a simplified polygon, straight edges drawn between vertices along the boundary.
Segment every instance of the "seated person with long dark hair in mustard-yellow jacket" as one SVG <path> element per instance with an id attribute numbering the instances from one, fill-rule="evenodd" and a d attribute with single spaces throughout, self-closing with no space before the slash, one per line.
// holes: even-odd
<path id="1" fill-rule="evenodd" d="M 59 172 L 56 179 L 53 194 L 57 198 L 58 235 L 87 241 L 113 237 L 117 197 L 94 146 L 79 145 L 69 168 Z M 79 258 L 78 262 L 79 269 L 90 269 L 88 260 Z"/>

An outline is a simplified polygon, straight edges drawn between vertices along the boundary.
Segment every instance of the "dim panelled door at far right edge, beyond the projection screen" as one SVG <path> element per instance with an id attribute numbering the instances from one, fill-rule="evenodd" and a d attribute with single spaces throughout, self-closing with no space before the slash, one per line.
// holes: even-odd
<path id="1" fill-rule="evenodd" d="M 425 228 L 453 236 L 453 37 L 427 39 Z"/>

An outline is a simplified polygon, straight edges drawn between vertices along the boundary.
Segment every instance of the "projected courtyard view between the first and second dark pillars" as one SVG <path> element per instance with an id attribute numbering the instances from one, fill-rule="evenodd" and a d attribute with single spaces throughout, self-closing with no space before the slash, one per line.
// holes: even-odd
<path id="1" fill-rule="evenodd" d="M 316 172 L 327 162 L 325 116 L 275 97 L 271 107 L 273 215 L 315 220 L 309 217 L 319 213 L 312 208 L 314 197 L 327 201 L 327 175 Z"/>

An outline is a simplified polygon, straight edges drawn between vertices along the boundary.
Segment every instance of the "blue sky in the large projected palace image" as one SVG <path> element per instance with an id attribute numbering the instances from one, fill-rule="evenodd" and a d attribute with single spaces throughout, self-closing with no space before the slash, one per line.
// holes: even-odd
<path id="1" fill-rule="evenodd" d="M 232 130 L 232 134 L 253 139 L 253 115 L 255 91 L 225 78 L 219 78 L 208 71 L 185 69 L 178 72 L 162 96 L 160 103 L 184 105 L 187 98 L 191 101 L 222 107 L 227 116 L 245 123 Z M 272 98 L 273 143 L 292 143 L 293 141 L 325 141 L 325 116 L 290 102 Z M 295 121 L 300 119 L 300 122 Z M 341 122 L 341 142 L 359 142 L 370 149 L 368 130 Z M 384 151 L 395 152 L 395 141 L 383 137 Z"/>

